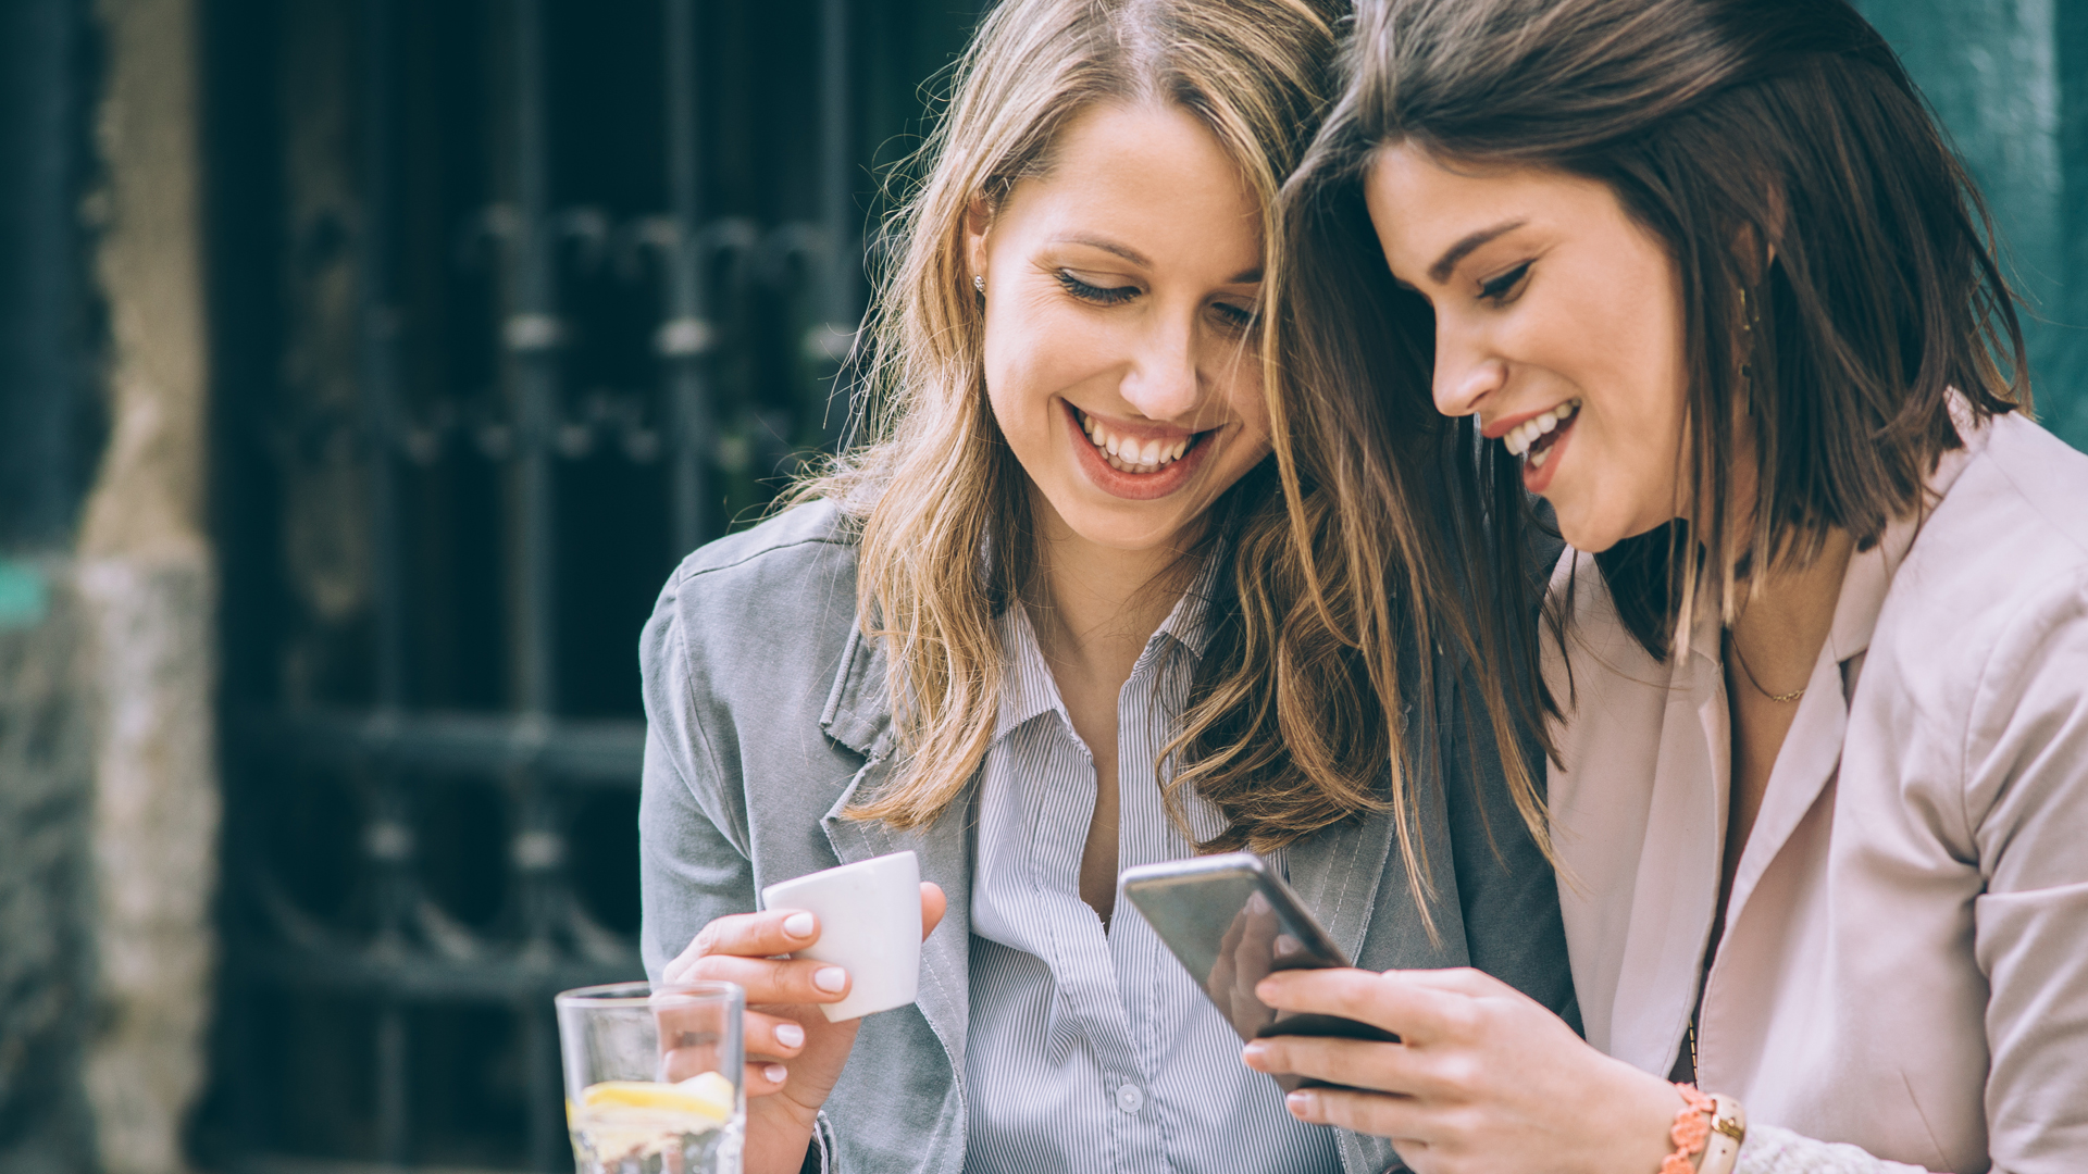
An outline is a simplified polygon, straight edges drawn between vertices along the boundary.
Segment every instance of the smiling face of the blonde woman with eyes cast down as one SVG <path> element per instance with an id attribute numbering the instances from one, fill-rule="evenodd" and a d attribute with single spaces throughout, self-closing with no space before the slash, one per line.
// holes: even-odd
<path id="1" fill-rule="evenodd" d="M 973 207 L 967 246 L 988 397 L 1048 529 L 1180 541 L 1270 451 L 1261 209 L 1194 117 L 1088 111 L 1046 175 Z"/>

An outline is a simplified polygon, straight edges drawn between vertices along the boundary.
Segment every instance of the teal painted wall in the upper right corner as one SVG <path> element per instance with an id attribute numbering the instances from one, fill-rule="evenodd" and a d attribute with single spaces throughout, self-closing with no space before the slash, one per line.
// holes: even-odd
<path id="1" fill-rule="evenodd" d="M 1856 0 L 1994 211 L 2038 418 L 2088 449 L 2088 2 Z"/>

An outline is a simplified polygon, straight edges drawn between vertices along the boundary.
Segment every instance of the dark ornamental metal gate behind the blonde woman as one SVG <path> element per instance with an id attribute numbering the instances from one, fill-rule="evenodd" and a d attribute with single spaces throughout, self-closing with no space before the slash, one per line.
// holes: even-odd
<path id="1" fill-rule="evenodd" d="M 641 973 L 637 631 L 831 443 L 963 0 L 207 8 L 226 973 L 200 1151 L 560 1170 Z"/>

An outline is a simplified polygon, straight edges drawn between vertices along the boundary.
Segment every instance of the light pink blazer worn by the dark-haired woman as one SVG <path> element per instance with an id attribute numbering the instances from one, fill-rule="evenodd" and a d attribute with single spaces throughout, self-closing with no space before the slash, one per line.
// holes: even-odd
<path id="1" fill-rule="evenodd" d="M 1698 1034 L 1754 1122 L 1925 1170 L 2088 1172 L 2088 455 L 2004 416 L 1856 554 L 1739 863 Z M 1666 1074 L 1718 900 L 1718 620 L 1624 633 L 1587 556 L 1549 775 L 1595 1047 Z"/>

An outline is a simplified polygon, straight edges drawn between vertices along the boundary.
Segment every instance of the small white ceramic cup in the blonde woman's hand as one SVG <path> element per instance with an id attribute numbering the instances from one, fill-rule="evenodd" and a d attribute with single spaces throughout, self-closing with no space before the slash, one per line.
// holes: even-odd
<path id="1" fill-rule="evenodd" d="M 791 957 L 848 971 L 848 999 L 818 1005 L 829 1024 L 904 1007 L 921 992 L 921 861 L 912 852 L 773 884 L 762 907 L 818 917 L 818 940 Z"/>

